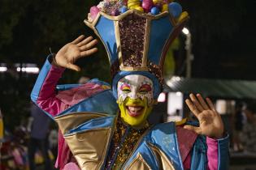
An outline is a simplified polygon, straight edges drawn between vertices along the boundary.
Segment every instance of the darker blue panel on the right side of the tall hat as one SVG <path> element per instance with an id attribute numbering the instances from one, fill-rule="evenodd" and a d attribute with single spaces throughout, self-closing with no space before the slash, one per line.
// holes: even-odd
<path id="1" fill-rule="evenodd" d="M 150 62 L 158 65 L 163 47 L 169 39 L 173 26 L 169 15 L 161 19 L 151 20 L 150 28 L 150 46 L 148 52 L 148 59 Z"/>

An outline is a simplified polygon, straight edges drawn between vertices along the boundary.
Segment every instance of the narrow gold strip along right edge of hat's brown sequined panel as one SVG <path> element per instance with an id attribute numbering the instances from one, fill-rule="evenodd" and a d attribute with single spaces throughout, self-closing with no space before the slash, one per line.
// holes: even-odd
<path id="1" fill-rule="evenodd" d="M 149 46 L 150 46 L 150 19 L 146 19 L 145 23 L 145 41 L 144 41 L 144 50 L 143 50 L 143 57 L 142 57 L 142 67 L 147 67 L 148 62 L 148 53 L 149 53 Z"/>

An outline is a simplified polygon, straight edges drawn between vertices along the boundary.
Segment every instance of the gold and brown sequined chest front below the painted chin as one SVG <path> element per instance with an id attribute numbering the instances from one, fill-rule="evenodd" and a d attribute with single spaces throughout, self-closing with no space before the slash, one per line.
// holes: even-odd
<path id="1" fill-rule="evenodd" d="M 140 130 L 132 129 L 131 126 L 124 125 L 121 118 L 118 117 L 111 147 L 106 159 L 105 169 L 121 169 L 134 147 L 137 145 L 138 140 L 147 129 L 148 125 L 145 125 L 145 127 Z"/>

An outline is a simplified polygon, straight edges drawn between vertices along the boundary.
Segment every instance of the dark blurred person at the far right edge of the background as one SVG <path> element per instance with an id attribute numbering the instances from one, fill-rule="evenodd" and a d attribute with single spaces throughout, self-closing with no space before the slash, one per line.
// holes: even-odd
<path id="1" fill-rule="evenodd" d="M 255 104 L 248 104 L 244 110 L 246 122 L 243 126 L 241 141 L 244 144 L 245 151 L 256 152 L 256 117 Z"/>

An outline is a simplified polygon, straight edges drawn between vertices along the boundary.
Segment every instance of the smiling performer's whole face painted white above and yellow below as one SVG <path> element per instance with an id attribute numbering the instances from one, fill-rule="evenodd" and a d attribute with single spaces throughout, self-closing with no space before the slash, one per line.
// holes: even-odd
<path id="1" fill-rule="evenodd" d="M 132 126 L 145 123 L 153 105 L 153 83 L 139 74 L 127 75 L 117 85 L 118 104 L 124 122 Z"/>

